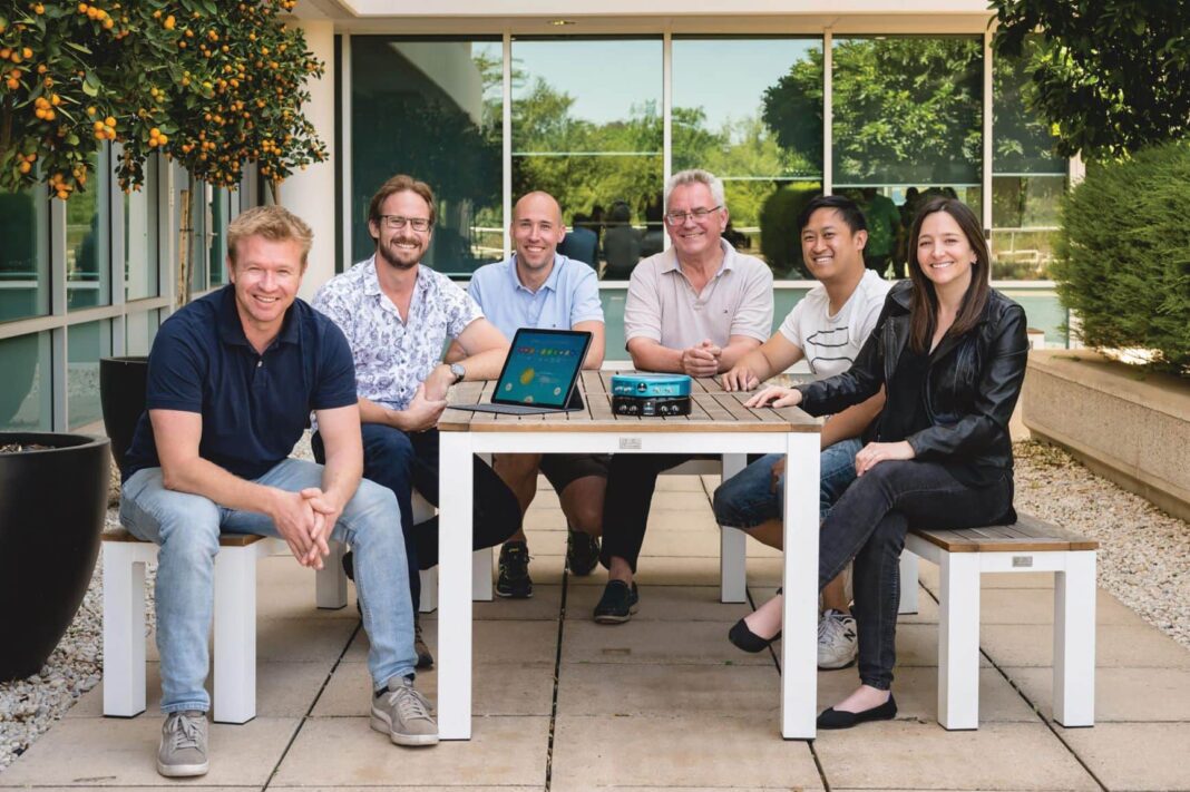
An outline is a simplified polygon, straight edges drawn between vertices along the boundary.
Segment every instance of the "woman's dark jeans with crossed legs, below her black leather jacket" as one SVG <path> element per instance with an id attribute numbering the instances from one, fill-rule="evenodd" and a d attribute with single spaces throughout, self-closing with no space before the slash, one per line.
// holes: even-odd
<path id="1" fill-rule="evenodd" d="M 898 561 L 909 526 L 972 528 L 1016 521 L 1013 474 L 971 488 L 932 461 L 883 461 L 856 479 L 822 522 L 819 591 L 854 559 L 852 615 L 859 635 L 859 679 L 889 690 L 896 662 Z"/>

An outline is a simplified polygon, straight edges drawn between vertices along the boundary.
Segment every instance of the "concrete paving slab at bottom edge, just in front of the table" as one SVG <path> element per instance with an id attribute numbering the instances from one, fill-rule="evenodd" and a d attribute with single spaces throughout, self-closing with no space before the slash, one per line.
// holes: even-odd
<path id="1" fill-rule="evenodd" d="M 644 787 L 822 788 L 804 742 L 778 736 L 777 718 L 560 715 L 551 790 Z"/>

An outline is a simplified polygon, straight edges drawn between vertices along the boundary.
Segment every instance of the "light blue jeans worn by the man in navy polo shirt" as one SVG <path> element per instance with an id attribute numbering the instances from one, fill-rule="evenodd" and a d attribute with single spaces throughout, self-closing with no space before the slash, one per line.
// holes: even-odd
<path id="1" fill-rule="evenodd" d="M 257 484 L 298 492 L 322 485 L 322 466 L 286 459 Z M 138 539 L 161 546 L 157 554 L 157 650 L 161 709 L 207 711 L 207 635 L 214 603 L 214 559 L 219 534 L 277 536 L 263 514 L 227 509 L 201 495 L 167 490 L 159 467 L 137 471 L 124 483 L 120 523 Z M 331 538 L 355 551 L 356 590 L 371 641 L 368 671 L 376 689 L 413 673 L 413 608 L 396 498 L 362 480 L 344 507 Z"/>

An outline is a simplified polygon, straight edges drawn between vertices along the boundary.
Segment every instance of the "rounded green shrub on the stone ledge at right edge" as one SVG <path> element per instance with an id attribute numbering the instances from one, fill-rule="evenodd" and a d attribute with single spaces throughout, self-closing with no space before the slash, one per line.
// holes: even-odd
<path id="1" fill-rule="evenodd" d="M 1063 304 L 1083 342 L 1153 352 L 1190 376 L 1190 143 L 1170 143 L 1088 168 L 1063 205 Z"/>

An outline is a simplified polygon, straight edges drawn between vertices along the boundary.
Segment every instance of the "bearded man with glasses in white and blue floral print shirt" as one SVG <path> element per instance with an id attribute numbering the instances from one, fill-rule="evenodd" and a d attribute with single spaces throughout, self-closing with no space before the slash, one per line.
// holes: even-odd
<path id="1" fill-rule="evenodd" d="M 347 338 L 364 442 L 364 478 L 396 494 L 414 614 L 419 570 L 438 564 L 438 520 L 413 524 L 413 490 L 438 504 L 438 417 L 446 390 L 462 379 L 495 379 L 508 339 L 466 291 L 421 265 L 434 225 L 430 186 L 406 175 L 384 182 L 368 209 L 376 253 L 328 281 L 314 307 Z M 441 363 L 446 340 L 464 357 Z M 321 440 L 314 434 L 315 457 Z M 520 528 L 521 511 L 490 467 L 475 459 L 475 547 L 491 547 Z M 418 667 L 433 664 L 415 624 Z"/>

